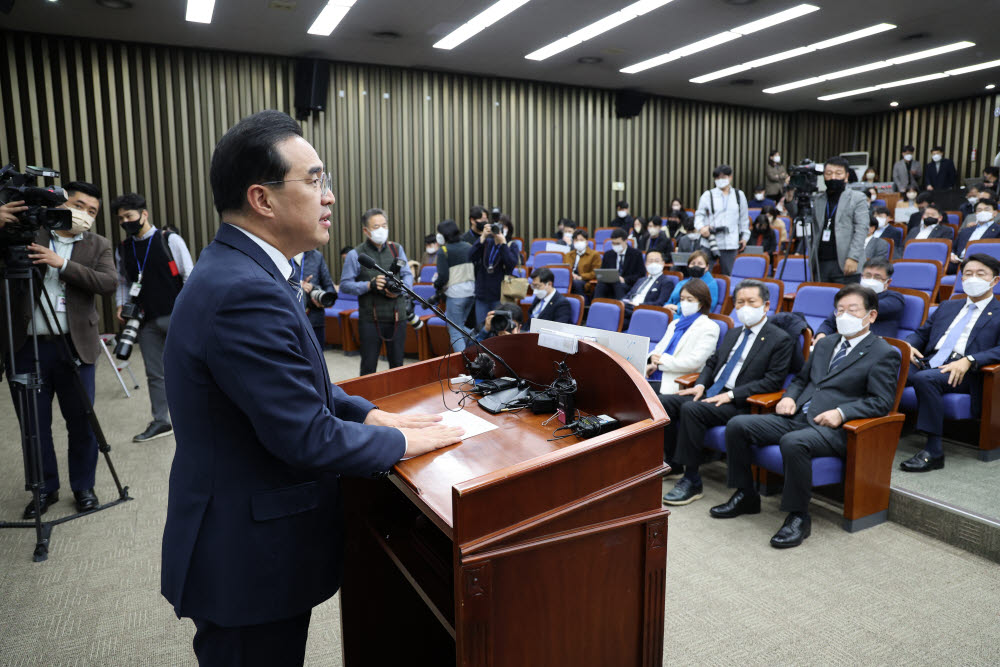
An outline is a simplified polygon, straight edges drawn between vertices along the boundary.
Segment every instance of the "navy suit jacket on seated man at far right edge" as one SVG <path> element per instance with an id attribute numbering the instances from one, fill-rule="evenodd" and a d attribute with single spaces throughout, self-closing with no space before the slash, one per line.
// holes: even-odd
<path id="1" fill-rule="evenodd" d="M 952 299 L 945 301 L 927 318 L 924 326 L 906 337 L 906 342 L 920 350 L 924 357 L 930 357 L 934 345 L 948 330 L 948 325 L 958 317 L 968 299 Z M 990 299 L 986 309 L 976 320 L 976 326 L 969 332 L 969 340 L 965 343 L 965 354 L 971 354 L 976 359 L 972 370 L 980 366 L 1000 363 L 1000 302 Z M 983 383 L 973 377 L 969 394 L 972 396 L 972 413 L 979 415 L 983 401 Z"/>

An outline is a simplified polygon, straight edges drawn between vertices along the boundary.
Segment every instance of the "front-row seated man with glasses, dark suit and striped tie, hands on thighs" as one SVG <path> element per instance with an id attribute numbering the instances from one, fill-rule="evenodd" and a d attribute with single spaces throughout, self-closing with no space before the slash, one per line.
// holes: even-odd
<path id="1" fill-rule="evenodd" d="M 710 514 L 728 519 L 760 512 L 750 472 L 751 447 L 777 443 L 785 476 L 781 509 L 789 512 L 771 538 L 771 546 L 779 549 L 802 544 L 812 529 L 812 459 L 845 456 L 847 435 L 841 426 L 852 419 L 886 415 L 892 408 L 899 354 L 871 333 L 878 297 L 867 287 L 845 285 L 833 302 L 837 335 L 816 344 L 775 414 L 740 415 L 726 425 L 728 485 L 736 492 Z"/>

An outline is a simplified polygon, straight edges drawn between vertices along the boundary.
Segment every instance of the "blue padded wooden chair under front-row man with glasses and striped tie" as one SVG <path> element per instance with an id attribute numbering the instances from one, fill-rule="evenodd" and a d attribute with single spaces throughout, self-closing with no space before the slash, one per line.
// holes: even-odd
<path id="1" fill-rule="evenodd" d="M 894 338 L 885 340 L 896 348 L 902 359 L 909 360 L 906 343 Z M 818 456 L 812 460 L 813 487 L 844 484 L 844 519 L 841 525 L 848 532 L 870 528 L 884 523 L 888 518 L 889 480 L 896 445 L 905 420 L 897 410 L 909 366 L 908 363 L 899 365 L 896 394 L 887 416 L 858 419 L 844 425 L 847 432 L 845 459 L 838 456 Z M 765 405 L 751 397 L 750 402 L 756 403 L 760 408 L 772 408 L 777 400 Z M 753 450 L 754 465 L 772 473 L 783 474 L 779 445 L 754 447 Z"/>

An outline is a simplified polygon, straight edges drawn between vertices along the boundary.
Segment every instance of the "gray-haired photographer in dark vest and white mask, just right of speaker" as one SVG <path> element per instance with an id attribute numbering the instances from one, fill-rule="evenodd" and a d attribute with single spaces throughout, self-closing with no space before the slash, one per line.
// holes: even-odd
<path id="1" fill-rule="evenodd" d="M 407 266 L 403 248 L 389 241 L 389 219 L 385 211 L 380 208 L 365 211 L 361 216 L 361 229 L 365 240 L 347 253 L 340 289 L 358 296 L 361 375 L 368 375 L 378 366 L 383 342 L 389 368 L 403 365 L 408 300 L 387 289 L 385 276 L 361 266 L 358 255 L 368 255 L 382 268 L 393 271 L 408 287 L 413 287 L 413 272 Z"/>

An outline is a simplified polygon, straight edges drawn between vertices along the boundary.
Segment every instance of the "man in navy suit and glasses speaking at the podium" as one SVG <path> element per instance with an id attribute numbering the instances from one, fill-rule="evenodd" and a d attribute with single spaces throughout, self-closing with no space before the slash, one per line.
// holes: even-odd
<path id="1" fill-rule="evenodd" d="M 177 450 L 161 585 L 202 665 L 301 665 L 340 586 L 339 476 L 458 442 L 331 384 L 288 260 L 330 239 L 323 163 L 298 124 L 249 116 L 210 170 L 222 224 L 174 309 L 165 354 Z"/>

